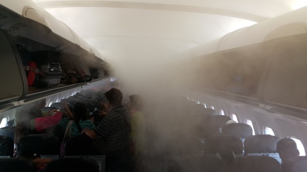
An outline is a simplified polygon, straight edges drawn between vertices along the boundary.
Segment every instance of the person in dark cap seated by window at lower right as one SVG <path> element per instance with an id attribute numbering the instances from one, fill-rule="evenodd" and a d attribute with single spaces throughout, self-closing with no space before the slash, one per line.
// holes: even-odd
<path id="1" fill-rule="evenodd" d="M 280 139 L 277 142 L 276 152 L 282 160 L 282 172 L 291 172 L 291 168 L 295 162 L 307 159 L 306 156 L 299 156 L 296 142 L 291 138 Z"/>

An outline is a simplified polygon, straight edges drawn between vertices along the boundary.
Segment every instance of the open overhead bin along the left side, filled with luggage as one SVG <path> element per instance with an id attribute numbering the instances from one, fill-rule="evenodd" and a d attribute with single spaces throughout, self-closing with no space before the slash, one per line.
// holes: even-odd
<path id="1" fill-rule="evenodd" d="M 0 111 L 100 82 L 105 73 L 111 73 L 109 64 L 94 54 L 98 51 L 45 13 L 27 6 L 23 17 L 0 5 L 0 70 L 4 79 Z M 93 81 L 89 67 L 101 73 Z M 68 73 L 76 81 L 63 80 Z"/>

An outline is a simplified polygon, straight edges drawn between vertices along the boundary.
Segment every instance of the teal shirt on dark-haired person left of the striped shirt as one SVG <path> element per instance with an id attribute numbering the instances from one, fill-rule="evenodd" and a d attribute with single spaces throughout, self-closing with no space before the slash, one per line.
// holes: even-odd
<path id="1" fill-rule="evenodd" d="M 64 129 L 64 131 L 65 131 L 67 125 L 68 125 L 68 122 L 69 122 L 68 118 L 63 118 L 59 122 L 59 125 Z M 84 120 L 84 121 L 80 120 L 79 124 L 80 124 L 81 129 L 83 129 L 83 128 L 88 128 L 90 130 L 95 129 L 95 125 L 94 125 L 93 121 L 91 121 L 91 120 Z M 72 134 L 71 134 L 71 136 L 77 136 L 77 135 L 81 135 L 81 134 L 80 134 L 80 131 L 78 130 L 76 123 L 73 122 L 72 123 Z"/>

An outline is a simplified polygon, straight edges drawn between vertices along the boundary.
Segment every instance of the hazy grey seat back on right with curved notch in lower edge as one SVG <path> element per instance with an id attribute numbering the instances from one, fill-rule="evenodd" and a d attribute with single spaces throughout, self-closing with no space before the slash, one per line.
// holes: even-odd
<path id="1" fill-rule="evenodd" d="M 230 135 L 210 136 L 205 141 L 205 153 L 216 154 L 217 152 L 228 149 L 234 154 L 243 154 L 243 144 L 241 139 Z"/>

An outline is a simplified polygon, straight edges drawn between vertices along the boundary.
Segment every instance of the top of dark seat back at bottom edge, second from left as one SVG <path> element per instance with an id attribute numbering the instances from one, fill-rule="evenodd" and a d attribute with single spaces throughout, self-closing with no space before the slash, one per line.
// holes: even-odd
<path id="1" fill-rule="evenodd" d="M 99 172 L 97 162 L 89 158 L 59 158 L 53 159 L 47 163 L 44 172 Z"/>

